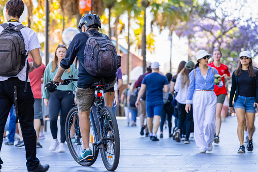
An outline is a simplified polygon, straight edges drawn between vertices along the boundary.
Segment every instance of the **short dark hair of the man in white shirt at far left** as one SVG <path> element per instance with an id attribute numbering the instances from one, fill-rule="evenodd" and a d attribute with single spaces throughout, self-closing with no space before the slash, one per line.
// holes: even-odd
<path id="1" fill-rule="evenodd" d="M 20 18 L 24 10 L 24 3 L 21 0 L 10 0 L 6 3 L 6 9 L 9 16 Z"/>

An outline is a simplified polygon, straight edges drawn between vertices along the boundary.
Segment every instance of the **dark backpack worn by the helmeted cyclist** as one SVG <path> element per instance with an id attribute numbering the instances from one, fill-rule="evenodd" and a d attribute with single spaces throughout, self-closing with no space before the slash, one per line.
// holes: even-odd
<path id="1" fill-rule="evenodd" d="M 100 37 L 92 35 L 89 31 L 83 33 L 88 37 L 84 49 L 85 70 L 95 77 L 114 75 L 121 66 L 121 56 L 117 55 L 110 39 L 102 33 L 99 33 Z"/>

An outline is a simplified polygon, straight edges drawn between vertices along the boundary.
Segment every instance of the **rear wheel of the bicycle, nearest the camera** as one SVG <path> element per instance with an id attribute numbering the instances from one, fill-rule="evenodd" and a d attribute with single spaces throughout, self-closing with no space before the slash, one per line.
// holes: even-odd
<path id="1" fill-rule="evenodd" d="M 108 114 L 110 118 L 108 117 Z M 108 171 L 114 171 L 118 167 L 120 157 L 120 135 L 118 123 L 115 113 L 110 107 L 106 106 L 102 108 L 100 116 L 102 115 L 104 115 L 104 119 L 102 118 L 100 122 L 102 132 L 100 131 L 100 128 L 98 128 L 99 133 L 101 132 L 100 135 L 102 139 L 102 144 L 100 145 L 101 158 L 106 169 Z M 106 138 L 110 140 L 105 141 Z"/>

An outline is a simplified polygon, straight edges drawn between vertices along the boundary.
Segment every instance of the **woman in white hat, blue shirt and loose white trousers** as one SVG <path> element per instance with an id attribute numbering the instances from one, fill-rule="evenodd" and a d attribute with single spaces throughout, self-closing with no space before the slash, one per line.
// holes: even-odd
<path id="1" fill-rule="evenodd" d="M 212 150 L 215 133 L 215 110 L 217 97 L 214 93 L 214 75 L 218 75 L 215 68 L 208 66 L 211 57 L 205 50 L 196 53 L 197 64 L 195 70 L 189 74 L 190 85 L 187 95 L 187 113 L 193 104 L 195 143 L 200 153 Z M 221 77 L 218 87 L 223 86 Z"/>

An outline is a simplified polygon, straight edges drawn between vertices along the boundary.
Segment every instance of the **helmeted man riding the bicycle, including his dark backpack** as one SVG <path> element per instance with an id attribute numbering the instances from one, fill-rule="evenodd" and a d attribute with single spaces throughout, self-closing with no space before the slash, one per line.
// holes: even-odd
<path id="1" fill-rule="evenodd" d="M 117 82 L 116 72 L 121 65 L 121 56 L 117 55 L 116 48 L 110 39 L 103 33 L 98 32 L 99 28 L 101 28 L 98 15 L 84 15 L 79 22 L 78 28 L 82 29 L 82 32 L 73 37 L 65 57 L 60 62 L 53 83 L 63 83 L 62 74 L 77 57 L 77 61 L 79 60 L 79 72 L 76 99 L 84 145 L 84 150 L 78 158 L 78 162 L 81 162 L 92 157 L 92 150 L 89 148 L 89 116 L 90 108 L 95 100 L 95 90 L 90 87 L 100 80 L 108 83 L 109 87 L 104 90 L 103 97 L 105 106 L 112 108 L 115 94 L 114 85 Z"/>

